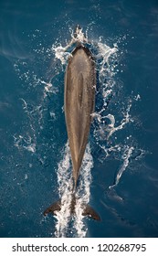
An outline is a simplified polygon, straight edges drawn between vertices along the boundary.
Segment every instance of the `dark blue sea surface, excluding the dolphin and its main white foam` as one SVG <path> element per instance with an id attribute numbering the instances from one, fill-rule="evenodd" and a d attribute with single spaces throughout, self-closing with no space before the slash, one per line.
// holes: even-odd
<path id="1" fill-rule="evenodd" d="M 43 211 L 58 198 L 56 172 L 68 137 L 64 69 L 56 63 L 54 75 L 51 46 L 65 45 L 68 27 L 77 24 L 84 31 L 90 27 L 89 37 L 97 42 L 102 37 L 110 47 L 121 38 L 122 72 L 115 77 L 121 86 L 107 114 L 117 120 L 117 105 L 141 97 L 132 102 L 133 123 L 118 134 L 120 142 L 130 134 L 136 152 L 113 189 L 108 187 L 121 161 L 106 159 L 90 135 L 90 204 L 101 221 L 84 220 L 87 237 L 158 237 L 156 0 L 0 1 L 0 237 L 54 236 L 56 220 L 44 219 Z M 52 79 L 57 93 L 44 97 L 37 79 Z"/>

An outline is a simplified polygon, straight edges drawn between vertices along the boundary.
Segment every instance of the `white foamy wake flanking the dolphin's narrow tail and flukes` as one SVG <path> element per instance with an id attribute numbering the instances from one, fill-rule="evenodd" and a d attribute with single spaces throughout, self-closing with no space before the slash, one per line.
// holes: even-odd
<path id="1" fill-rule="evenodd" d="M 72 199 L 72 172 L 70 165 L 70 153 L 68 143 L 63 150 L 63 159 L 58 164 L 58 196 L 61 198 L 61 210 L 56 212 L 56 237 L 66 237 L 69 222 L 73 221 L 73 229 L 76 229 L 78 237 L 85 237 L 87 229 L 83 223 L 83 206 L 90 201 L 90 170 L 93 166 L 90 144 L 87 145 L 80 169 L 79 187 L 76 193 L 75 216 L 70 216 L 70 204 Z"/>

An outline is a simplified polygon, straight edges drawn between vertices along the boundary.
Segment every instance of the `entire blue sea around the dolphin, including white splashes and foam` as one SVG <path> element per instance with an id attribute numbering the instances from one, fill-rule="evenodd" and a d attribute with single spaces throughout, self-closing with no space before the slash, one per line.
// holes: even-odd
<path id="1" fill-rule="evenodd" d="M 78 24 L 97 89 L 70 216 L 63 98 Z M 0 237 L 158 237 L 157 49 L 157 0 L 0 1 Z"/>

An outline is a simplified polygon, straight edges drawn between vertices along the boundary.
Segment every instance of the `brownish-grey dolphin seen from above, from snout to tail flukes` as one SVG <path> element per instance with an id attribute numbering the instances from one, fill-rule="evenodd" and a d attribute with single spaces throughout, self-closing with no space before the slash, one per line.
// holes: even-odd
<path id="1" fill-rule="evenodd" d="M 76 28 L 74 37 L 81 29 Z M 68 143 L 73 166 L 73 191 L 70 205 L 71 214 L 75 213 L 79 170 L 88 143 L 92 113 L 95 108 L 96 67 L 90 49 L 78 42 L 71 52 L 65 73 L 64 109 L 68 133 Z M 61 209 L 61 201 L 54 203 L 44 212 L 56 214 Z M 83 216 L 100 220 L 100 216 L 90 206 L 83 206 Z"/>

